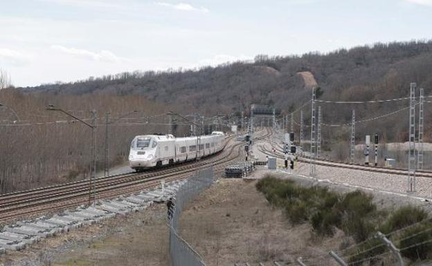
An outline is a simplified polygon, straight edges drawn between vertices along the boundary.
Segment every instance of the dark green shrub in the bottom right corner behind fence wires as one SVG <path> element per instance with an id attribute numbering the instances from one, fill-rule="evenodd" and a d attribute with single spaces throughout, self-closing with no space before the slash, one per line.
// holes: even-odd
<path id="1" fill-rule="evenodd" d="M 404 257 L 411 260 L 424 260 L 432 258 L 432 224 L 426 222 L 422 225 L 406 229 L 400 236 L 399 249 Z M 420 245 L 421 243 L 424 243 Z M 415 247 L 411 247 L 417 245 Z M 408 248 L 411 247 L 411 248 Z"/>

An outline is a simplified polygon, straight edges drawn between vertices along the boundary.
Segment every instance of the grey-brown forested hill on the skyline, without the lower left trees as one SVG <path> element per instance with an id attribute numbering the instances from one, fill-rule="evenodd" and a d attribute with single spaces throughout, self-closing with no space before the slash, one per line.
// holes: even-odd
<path id="1" fill-rule="evenodd" d="M 300 71 L 309 70 L 323 99 L 405 97 L 410 82 L 431 87 L 432 41 L 395 42 L 336 50 L 321 55 L 268 57 L 199 70 L 134 72 L 91 77 L 68 84 L 44 84 L 28 91 L 75 94 L 103 91 L 145 95 L 167 103 L 185 103 L 206 115 L 231 113 L 251 103 L 293 110 L 310 97 Z"/>

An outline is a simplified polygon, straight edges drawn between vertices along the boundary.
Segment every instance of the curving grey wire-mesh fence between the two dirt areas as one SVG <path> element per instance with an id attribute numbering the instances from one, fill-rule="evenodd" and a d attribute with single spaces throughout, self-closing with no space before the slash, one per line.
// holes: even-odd
<path id="1" fill-rule="evenodd" d="M 172 266 L 205 266 L 202 256 L 195 251 L 181 236 L 177 229 L 183 208 L 201 191 L 210 187 L 215 181 L 213 167 L 201 170 L 197 175 L 188 178 L 177 191 L 173 205 L 168 210 L 170 227 L 170 257 Z"/>

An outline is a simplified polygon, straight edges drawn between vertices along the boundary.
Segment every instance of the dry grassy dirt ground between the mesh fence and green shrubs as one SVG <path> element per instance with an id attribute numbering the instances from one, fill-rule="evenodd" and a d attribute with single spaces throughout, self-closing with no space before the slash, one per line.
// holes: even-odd
<path id="1" fill-rule="evenodd" d="M 275 260 L 293 262 L 305 254 L 327 256 L 329 249 L 339 248 L 343 233 L 318 239 L 310 225 L 291 227 L 283 211 L 273 209 L 255 183 L 219 180 L 182 213 L 180 234 L 207 265 L 271 265 Z"/>

